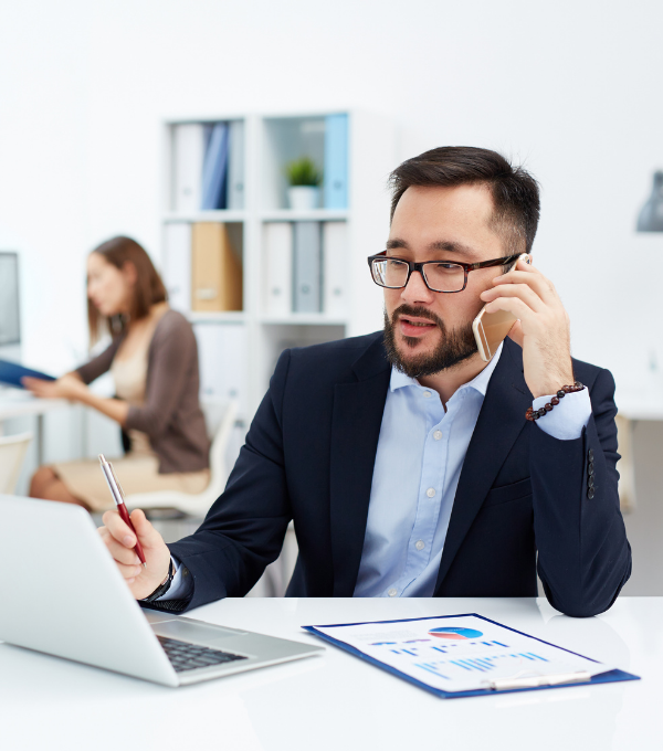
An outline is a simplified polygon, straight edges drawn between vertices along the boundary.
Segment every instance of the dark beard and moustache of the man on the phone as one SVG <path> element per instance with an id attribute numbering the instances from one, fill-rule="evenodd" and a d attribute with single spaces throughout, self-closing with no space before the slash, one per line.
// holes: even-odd
<path id="1" fill-rule="evenodd" d="M 396 345 L 396 326 L 399 317 L 402 316 L 427 318 L 439 327 L 442 332 L 442 339 L 433 352 L 418 355 L 409 359 L 401 356 Z M 420 339 L 417 337 L 402 337 L 402 341 L 406 348 L 414 348 L 419 345 Z M 472 322 L 450 332 L 446 330 L 444 321 L 434 313 L 431 313 L 428 308 L 410 307 L 409 305 L 401 305 L 400 308 L 397 308 L 391 319 L 387 315 L 387 310 L 385 310 L 385 347 L 387 348 L 389 362 L 409 378 L 434 376 L 441 370 L 453 368 L 459 362 L 471 358 L 477 351 L 474 334 L 472 332 Z"/>

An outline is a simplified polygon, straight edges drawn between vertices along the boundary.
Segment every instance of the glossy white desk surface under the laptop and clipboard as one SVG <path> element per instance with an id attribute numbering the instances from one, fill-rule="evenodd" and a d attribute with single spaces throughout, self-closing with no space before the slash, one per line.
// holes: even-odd
<path id="1" fill-rule="evenodd" d="M 2 747 L 77 751 L 661 748 L 663 597 L 573 620 L 544 600 L 223 600 L 194 617 L 319 642 L 301 625 L 477 612 L 642 680 L 439 699 L 332 646 L 171 689 L 0 644 Z M 44 625 L 48 618 L 44 621 Z"/>

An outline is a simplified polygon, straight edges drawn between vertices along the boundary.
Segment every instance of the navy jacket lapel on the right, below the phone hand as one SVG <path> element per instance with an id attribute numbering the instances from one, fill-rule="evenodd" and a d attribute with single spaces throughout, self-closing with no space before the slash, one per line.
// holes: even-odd
<path id="1" fill-rule="evenodd" d="M 459 479 L 435 592 L 440 589 L 465 535 L 470 530 L 499 467 L 527 424 L 525 411 L 532 393 L 523 377 L 519 348 L 506 339 L 488 388 Z"/>

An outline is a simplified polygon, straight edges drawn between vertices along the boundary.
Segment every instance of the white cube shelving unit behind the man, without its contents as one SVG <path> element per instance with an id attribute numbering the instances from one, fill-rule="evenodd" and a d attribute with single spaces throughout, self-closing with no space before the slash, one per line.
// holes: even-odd
<path id="1" fill-rule="evenodd" d="M 325 168 L 329 115 L 347 116 L 347 208 L 293 211 L 286 202 L 284 166 L 292 159 L 309 156 L 319 168 Z M 176 129 L 182 125 L 211 126 L 221 121 L 243 124 L 243 150 L 240 155 L 243 207 L 180 211 L 175 180 L 176 169 L 182 169 L 182 156 L 175 152 Z M 175 233 L 180 232 L 181 237 L 186 237 L 187 225 L 218 222 L 233 225 L 234 236 L 241 237 L 238 242 L 240 247 L 235 250 L 241 256 L 243 271 L 242 310 L 181 309 L 191 320 L 199 340 L 203 395 L 223 399 L 236 394 L 241 417 L 248 424 L 267 389 L 283 349 L 366 334 L 382 326 L 381 295 L 370 281 L 366 257 L 382 250 L 387 237 L 389 198 L 386 180 L 394 166 L 391 124 L 361 112 L 214 115 L 172 118 L 165 123 L 161 268 L 171 297 L 182 298 L 173 294 L 180 285 L 179 292 L 183 289 L 186 298 L 186 285 L 190 284 L 187 279 L 187 266 L 190 269 L 187 248 L 181 242 L 173 247 L 169 241 L 173 226 L 179 226 Z M 188 168 L 189 165 L 185 163 L 185 169 Z M 275 222 L 290 223 L 293 234 L 298 222 L 319 222 L 320 228 L 327 222 L 345 225 L 343 257 L 327 258 L 327 263 L 337 261 L 343 267 L 343 289 L 336 290 L 343 296 L 343 306 L 337 305 L 333 314 L 324 295 L 319 311 L 270 311 L 265 300 L 269 282 L 265 278 L 265 226 Z M 323 229 L 320 232 L 324 236 Z M 320 268 L 324 269 L 324 266 L 325 262 L 322 262 Z M 181 305 L 173 304 L 173 307 L 181 308 Z M 339 307 L 343 309 L 339 310 Z"/>

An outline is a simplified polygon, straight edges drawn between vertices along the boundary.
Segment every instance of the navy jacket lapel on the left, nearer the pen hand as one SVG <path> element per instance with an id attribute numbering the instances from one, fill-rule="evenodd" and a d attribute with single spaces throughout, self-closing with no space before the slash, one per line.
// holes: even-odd
<path id="1" fill-rule="evenodd" d="M 357 582 L 373 465 L 391 368 L 379 337 L 354 364 L 356 382 L 334 390 L 330 531 L 334 596 L 351 597 Z"/>

